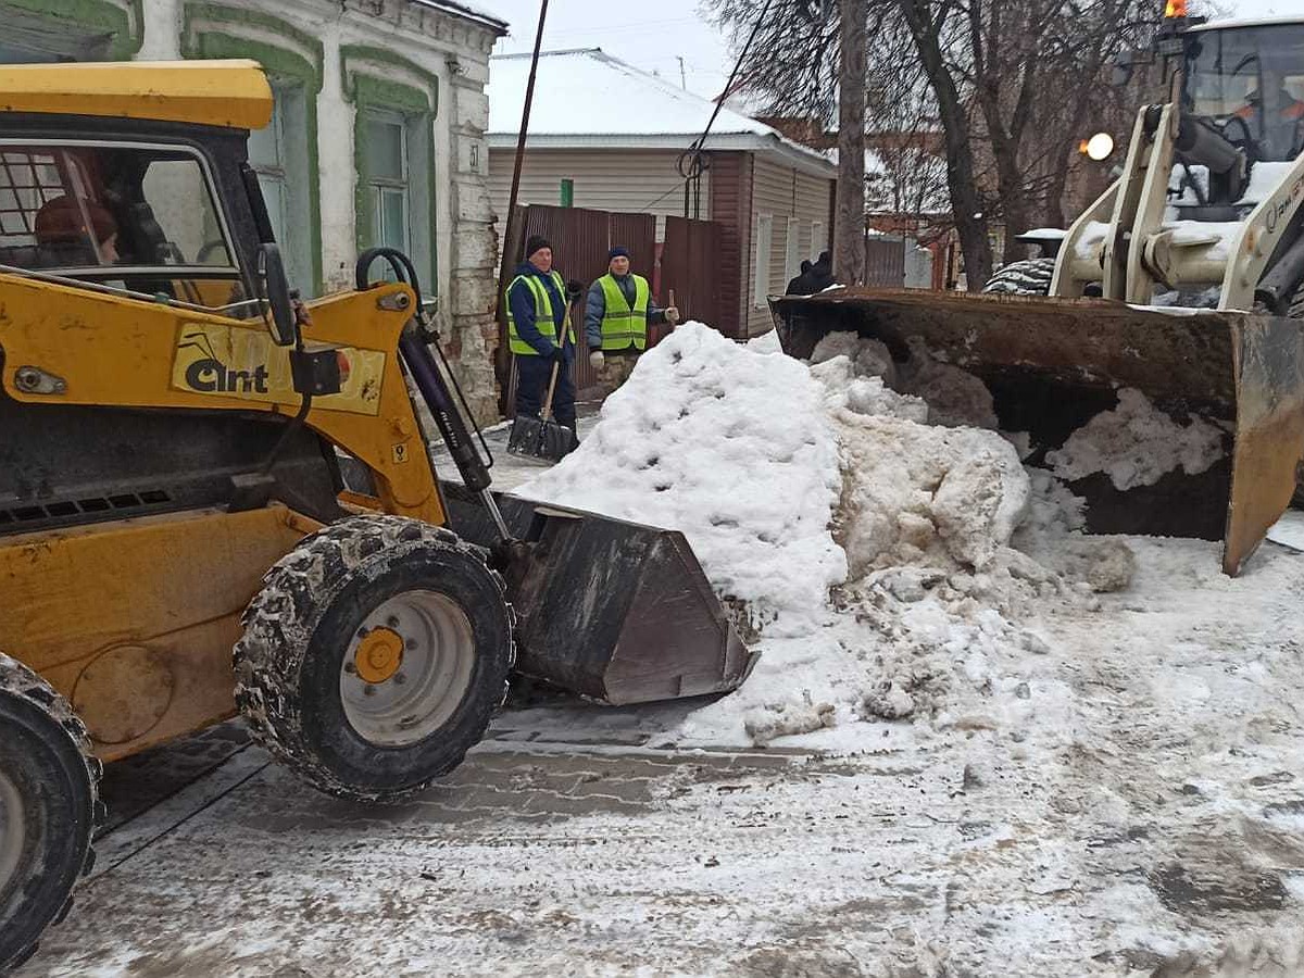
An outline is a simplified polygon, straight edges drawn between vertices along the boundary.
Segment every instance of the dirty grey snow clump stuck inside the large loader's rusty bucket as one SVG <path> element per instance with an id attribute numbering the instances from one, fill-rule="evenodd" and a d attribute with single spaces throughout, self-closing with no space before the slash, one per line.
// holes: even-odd
<path id="1" fill-rule="evenodd" d="M 1194 476 L 1226 455 L 1226 434 L 1204 419 L 1174 421 L 1138 390 L 1119 391 L 1119 406 L 1103 411 L 1046 454 L 1051 471 L 1074 480 L 1104 472 L 1115 489 L 1154 485 L 1168 472 Z"/>

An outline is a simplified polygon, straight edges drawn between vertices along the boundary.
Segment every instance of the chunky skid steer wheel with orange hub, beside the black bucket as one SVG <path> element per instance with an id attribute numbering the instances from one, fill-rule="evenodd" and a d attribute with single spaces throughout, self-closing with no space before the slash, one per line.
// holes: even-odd
<path id="1" fill-rule="evenodd" d="M 502 579 L 455 533 L 353 516 L 263 578 L 235 648 L 236 703 L 316 788 L 400 802 L 462 763 L 506 695 Z"/>

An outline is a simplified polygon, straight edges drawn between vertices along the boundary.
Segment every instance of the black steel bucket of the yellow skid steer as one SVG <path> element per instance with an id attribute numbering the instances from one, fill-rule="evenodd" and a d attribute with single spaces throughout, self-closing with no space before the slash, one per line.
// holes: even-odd
<path id="1" fill-rule="evenodd" d="M 443 485 L 450 527 L 493 546 L 475 494 Z M 623 705 L 737 689 L 755 662 L 683 533 L 494 494 L 529 556 L 509 567 L 516 669 Z"/>

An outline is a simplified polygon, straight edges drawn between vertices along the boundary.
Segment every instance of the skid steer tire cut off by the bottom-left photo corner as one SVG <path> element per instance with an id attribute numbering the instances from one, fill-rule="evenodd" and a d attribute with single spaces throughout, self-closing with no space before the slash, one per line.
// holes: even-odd
<path id="1" fill-rule="evenodd" d="M 99 776 L 68 700 L 0 653 L 0 974 L 31 957 L 90 871 Z"/>

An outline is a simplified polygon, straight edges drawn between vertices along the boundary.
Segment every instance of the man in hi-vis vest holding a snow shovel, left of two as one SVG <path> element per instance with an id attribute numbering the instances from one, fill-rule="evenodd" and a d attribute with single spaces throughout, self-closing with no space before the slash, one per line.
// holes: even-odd
<path id="1" fill-rule="evenodd" d="M 570 283 L 553 269 L 553 246 L 539 235 L 526 240 L 526 261 L 507 286 L 507 340 L 516 355 L 516 413 L 539 417 L 548 382 L 557 364 L 553 416 L 575 430 L 575 327 L 570 303 L 579 297 L 579 283 Z"/>

